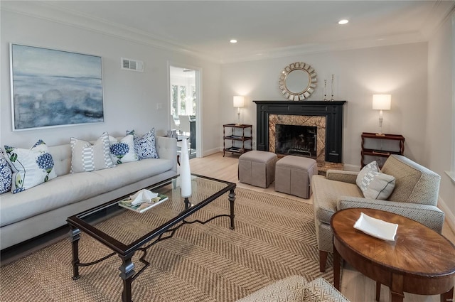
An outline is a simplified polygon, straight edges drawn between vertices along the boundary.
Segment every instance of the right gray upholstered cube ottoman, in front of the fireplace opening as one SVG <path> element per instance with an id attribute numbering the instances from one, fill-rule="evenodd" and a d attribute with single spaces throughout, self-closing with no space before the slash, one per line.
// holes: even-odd
<path id="1" fill-rule="evenodd" d="M 275 166 L 275 190 L 301 198 L 311 196 L 311 176 L 318 174 L 318 165 L 313 158 L 288 155 Z"/>

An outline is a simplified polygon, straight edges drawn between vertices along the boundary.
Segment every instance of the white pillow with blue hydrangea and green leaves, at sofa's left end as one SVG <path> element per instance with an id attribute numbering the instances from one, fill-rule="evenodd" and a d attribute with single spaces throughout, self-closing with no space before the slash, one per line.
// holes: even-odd
<path id="1" fill-rule="evenodd" d="M 5 151 L 13 169 L 12 193 L 22 192 L 57 177 L 48 146 L 41 139 L 31 149 L 5 146 Z"/>

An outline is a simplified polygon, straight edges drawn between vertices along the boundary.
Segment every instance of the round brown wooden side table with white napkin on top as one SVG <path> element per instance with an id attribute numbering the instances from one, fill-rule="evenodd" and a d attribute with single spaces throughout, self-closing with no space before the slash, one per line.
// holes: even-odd
<path id="1" fill-rule="evenodd" d="M 395 241 L 378 239 L 353 226 L 360 213 L 398 225 Z M 336 212 L 333 230 L 333 282 L 340 289 L 341 258 L 360 273 L 390 288 L 390 301 L 403 301 L 404 292 L 441 295 L 454 301 L 455 246 L 446 237 L 407 217 L 365 208 Z"/>

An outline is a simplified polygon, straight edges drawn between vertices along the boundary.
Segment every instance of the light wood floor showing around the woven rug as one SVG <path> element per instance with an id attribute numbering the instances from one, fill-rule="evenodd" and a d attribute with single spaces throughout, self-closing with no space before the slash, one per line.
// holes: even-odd
<path id="1" fill-rule="evenodd" d="M 303 198 L 298 198 L 284 193 L 276 193 L 274 191 L 274 183 L 272 183 L 272 185 L 270 185 L 267 189 L 257 188 L 251 185 L 239 183 L 237 178 L 237 164 L 238 156 L 226 153 L 225 157 L 223 157 L 222 152 L 215 153 L 204 158 L 193 158 L 190 161 L 191 173 L 228 180 L 232 183 L 237 183 L 237 187 L 239 188 L 248 188 L 264 193 L 286 196 L 287 198 L 299 200 L 302 203 L 312 203 L 311 199 L 305 200 Z M 444 224 L 442 234 L 444 234 L 444 236 L 447 237 L 451 242 L 455 243 L 455 234 L 446 224 Z M 422 261 L 425 261 L 425 259 L 422 259 Z M 358 271 L 355 271 L 355 269 L 352 267 L 345 265 L 343 268 L 343 276 L 341 280 L 341 293 L 343 293 L 351 302 L 374 302 L 375 281 L 363 276 Z M 380 293 L 380 302 L 390 302 L 389 295 L 389 288 L 382 286 Z M 405 293 L 405 302 L 433 301 L 439 302 L 439 296 L 419 296 L 412 293 Z"/>

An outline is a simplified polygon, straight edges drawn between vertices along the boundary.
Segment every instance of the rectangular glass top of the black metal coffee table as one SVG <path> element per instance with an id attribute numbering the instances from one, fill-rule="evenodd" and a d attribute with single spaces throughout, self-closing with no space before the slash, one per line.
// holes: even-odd
<path id="1" fill-rule="evenodd" d="M 69 217 L 68 222 L 117 252 L 126 252 L 150 242 L 193 212 L 235 189 L 235 183 L 192 175 L 192 193 L 186 203 L 181 197 L 180 180 L 180 176 L 177 176 L 147 187 L 147 190 L 166 195 L 168 199 L 144 212 L 135 212 L 119 205 L 120 201 L 136 193 L 133 192 Z M 228 214 L 228 195 L 225 204 Z"/>

